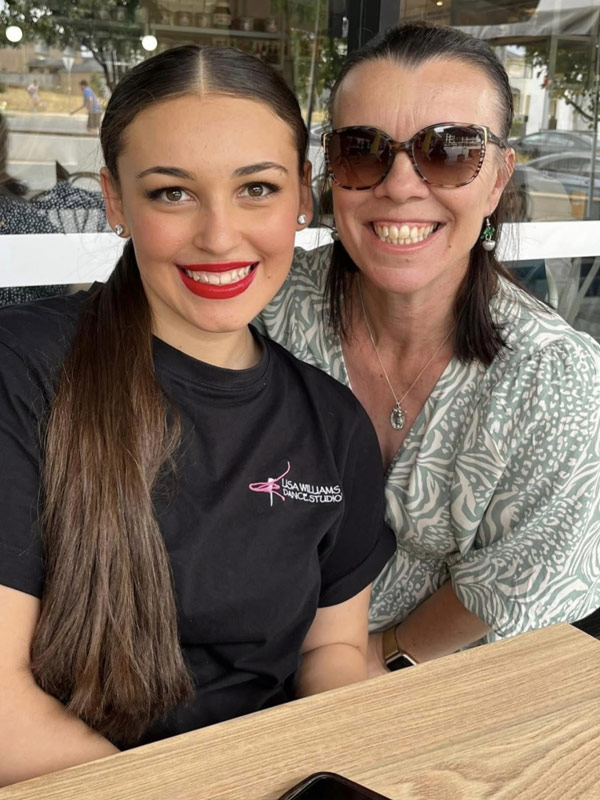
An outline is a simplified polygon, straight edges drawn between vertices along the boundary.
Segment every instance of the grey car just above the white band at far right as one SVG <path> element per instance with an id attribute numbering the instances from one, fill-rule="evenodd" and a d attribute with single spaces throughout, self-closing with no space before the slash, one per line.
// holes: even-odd
<path id="1" fill-rule="evenodd" d="M 528 221 L 600 219 L 600 157 L 596 157 L 591 216 L 587 216 L 592 156 L 566 152 L 517 164 L 512 184 Z"/>

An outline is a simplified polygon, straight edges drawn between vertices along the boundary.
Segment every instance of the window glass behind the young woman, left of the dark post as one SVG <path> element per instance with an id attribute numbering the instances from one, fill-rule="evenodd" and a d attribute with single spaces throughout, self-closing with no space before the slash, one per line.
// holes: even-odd
<path id="1" fill-rule="evenodd" d="M 0 238 L 108 234 L 98 179 L 102 114 L 128 69 L 181 44 L 238 47 L 282 72 L 310 128 L 316 180 L 347 34 L 345 0 L 0 0 Z M 43 246 L 62 274 L 64 242 Z"/>

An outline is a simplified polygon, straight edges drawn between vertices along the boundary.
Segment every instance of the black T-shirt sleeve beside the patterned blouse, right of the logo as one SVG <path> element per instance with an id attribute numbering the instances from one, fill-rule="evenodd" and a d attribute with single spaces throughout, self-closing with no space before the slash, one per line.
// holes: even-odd
<path id="1" fill-rule="evenodd" d="M 349 600 L 372 583 L 396 549 L 396 537 L 384 522 L 384 478 L 379 444 L 366 413 L 354 431 L 342 475 L 344 512 L 321 553 L 319 606 Z"/>

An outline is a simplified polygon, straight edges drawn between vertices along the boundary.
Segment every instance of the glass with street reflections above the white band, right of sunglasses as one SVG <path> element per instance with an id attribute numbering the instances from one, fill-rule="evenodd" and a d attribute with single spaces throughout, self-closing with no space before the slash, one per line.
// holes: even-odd
<path id="1" fill-rule="evenodd" d="M 401 19 L 422 18 L 486 39 L 508 72 L 522 219 L 600 219 L 598 161 L 592 158 L 600 147 L 598 0 L 444 0 L 441 6 L 405 0 Z M 575 154 L 587 156 L 587 169 L 537 161 Z"/>

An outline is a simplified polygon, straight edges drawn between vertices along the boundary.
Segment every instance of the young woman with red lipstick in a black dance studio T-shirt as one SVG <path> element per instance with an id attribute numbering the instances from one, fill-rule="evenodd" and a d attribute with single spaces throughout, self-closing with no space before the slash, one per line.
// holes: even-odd
<path id="1" fill-rule="evenodd" d="M 393 550 L 350 392 L 263 340 L 310 208 L 274 71 L 177 48 L 101 135 L 105 285 L 0 312 L 0 782 L 366 676 Z"/>

